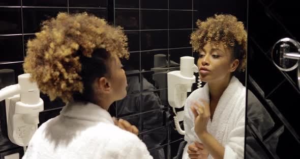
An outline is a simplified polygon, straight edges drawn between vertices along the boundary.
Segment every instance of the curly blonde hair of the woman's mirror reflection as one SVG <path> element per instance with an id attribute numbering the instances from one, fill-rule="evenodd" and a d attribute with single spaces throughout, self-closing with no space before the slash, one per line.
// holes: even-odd
<path id="1" fill-rule="evenodd" d="M 246 69 L 247 55 L 247 32 L 244 24 L 237 21 L 233 15 L 220 14 L 208 17 L 206 21 L 197 20 L 198 29 L 191 34 L 193 50 L 200 50 L 207 44 L 211 43 L 217 46 L 220 41 L 224 47 L 233 48 L 233 59 L 239 60 L 238 71 L 244 72 Z"/>

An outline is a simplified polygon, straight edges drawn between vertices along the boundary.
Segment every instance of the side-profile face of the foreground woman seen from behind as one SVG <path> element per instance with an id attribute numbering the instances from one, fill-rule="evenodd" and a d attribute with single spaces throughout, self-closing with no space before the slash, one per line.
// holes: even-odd
<path id="1" fill-rule="evenodd" d="M 110 84 L 113 98 L 115 100 L 121 100 L 127 95 L 127 80 L 123 65 L 119 58 L 113 57 L 110 68 Z"/>

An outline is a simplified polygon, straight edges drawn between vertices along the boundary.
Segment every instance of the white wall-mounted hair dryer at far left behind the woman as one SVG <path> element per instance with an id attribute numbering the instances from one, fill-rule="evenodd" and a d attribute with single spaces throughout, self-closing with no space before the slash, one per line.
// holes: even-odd
<path id="1" fill-rule="evenodd" d="M 8 137 L 19 146 L 28 145 L 38 128 L 39 112 L 44 110 L 40 90 L 29 77 L 28 73 L 21 74 L 19 84 L 0 90 L 0 101 L 5 99 Z"/>

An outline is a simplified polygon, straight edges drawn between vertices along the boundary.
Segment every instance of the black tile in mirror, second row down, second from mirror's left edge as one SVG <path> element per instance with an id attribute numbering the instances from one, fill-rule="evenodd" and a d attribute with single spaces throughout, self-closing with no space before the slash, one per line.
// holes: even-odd
<path id="1" fill-rule="evenodd" d="M 141 10 L 141 29 L 168 29 L 168 11 Z"/>

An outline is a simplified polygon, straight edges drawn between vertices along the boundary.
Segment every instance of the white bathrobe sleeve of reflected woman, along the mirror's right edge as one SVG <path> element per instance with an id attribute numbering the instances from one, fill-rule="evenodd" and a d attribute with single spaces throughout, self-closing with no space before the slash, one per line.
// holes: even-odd
<path id="1" fill-rule="evenodd" d="M 243 102 L 244 100 L 244 102 Z M 245 99 L 242 104 L 245 105 Z M 225 144 L 224 159 L 230 158 L 244 158 L 244 145 L 245 145 L 245 114 L 246 107 L 241 109 L 236 114 L 236 123 L 234 128 L 230 131 L 227 143 Z"/>

